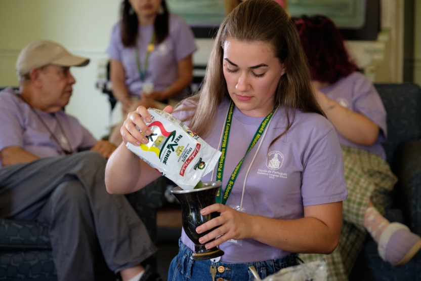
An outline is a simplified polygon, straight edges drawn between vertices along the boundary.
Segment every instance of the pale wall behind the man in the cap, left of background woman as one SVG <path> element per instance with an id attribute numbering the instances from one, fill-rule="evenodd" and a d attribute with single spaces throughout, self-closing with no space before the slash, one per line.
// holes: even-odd
<path id="1" fill-rule="evenodd" d="M 97 138 L 108 133 L 109 103 L 95 89 L 97 67 L 106 58 L 118 0 L 1 0 L 0 87 L 17 86 L 15 62 L 20 50 L 35 39 L 49 39 L 70 52 L 91 58 L 86 67 L 71 69 L 76 78 L 66 111 Z M 118 114 L 119 116 L 120 114 Z"/>

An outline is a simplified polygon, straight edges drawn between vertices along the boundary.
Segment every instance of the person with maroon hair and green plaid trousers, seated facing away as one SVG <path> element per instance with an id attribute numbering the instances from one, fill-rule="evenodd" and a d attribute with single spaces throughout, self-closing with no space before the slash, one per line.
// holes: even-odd
<path id="1" fill-rule="evenodd" d="M 325 258 L 328 280 L 348 280 L 368 231 L 383 260 L 404 265 L 421 248 L 421 238 L 382 215 L 390 205 L 385 194 L 397 181 L 381 145 L 387 137 L 382 100 L 369 79 L 357 71 L 340 31 L 329 18 L 292 20 L 309 62 L 316 100 L 338 133 L 348 189 L 338 247 L 327 256 L 300 257 L 306 262 Z"/>

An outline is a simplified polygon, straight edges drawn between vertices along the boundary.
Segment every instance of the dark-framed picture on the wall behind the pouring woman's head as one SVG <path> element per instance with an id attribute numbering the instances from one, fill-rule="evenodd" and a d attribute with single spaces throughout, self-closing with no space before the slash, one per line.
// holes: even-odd
<path id="1" fill-rule="evenodd" d="M 197 38 L 213 37 L 224 20 L 225 1 L 166 0 L 172 13 L 183 17 Z M 380 0 L 287 0 L 291 16 L 324 15 L 345 39 L 375 40 L 380 30 Z M 366 15 L 370 15 L 367 17 Z"/>

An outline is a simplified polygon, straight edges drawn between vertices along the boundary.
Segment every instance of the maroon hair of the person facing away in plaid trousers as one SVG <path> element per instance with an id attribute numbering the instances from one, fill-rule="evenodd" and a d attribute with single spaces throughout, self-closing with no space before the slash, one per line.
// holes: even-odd
<path id="1" fill-rule="evenodd" d="M 329 18 L 302 16 L 292 20 L 298 28 L 313 80 L 333 84 L 357 70 L 345 49 L 344 38 Z"/>

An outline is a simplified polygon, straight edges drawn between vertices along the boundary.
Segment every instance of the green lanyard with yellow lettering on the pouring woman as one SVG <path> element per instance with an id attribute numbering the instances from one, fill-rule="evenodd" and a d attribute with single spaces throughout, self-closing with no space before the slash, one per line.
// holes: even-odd
<path id="1" fill-rule="evenodd" d="M 245 155 L 247 155 L 247 153 L 250 152 L 250 150 L 259 141 L 260 137 L 262 136 L 263 132 L 266 129 L 266 125 L 269 123 L 270 118 L 272 118 L 273 112 L 275 111 L 275 109 L 276 109 L 276 106 L 275 106 L 275 108 L 273 108 L 272 112 L 270 112 L 266 116 L 266 118 L 263 119 L 262 124 L 260 124 L 259 129 L 256 131 L 255 136 L 253 137 L 253 139 L 250 142 L 250 145 L 248 146 L 247 152 L 245 152 L 244 156 L 242 157 L 242 159 L 240 160 L 238 165 L 235 167 L 234 172 L 232 172 L 231 178 L 229 179 L 229 181 L 227 183 L 227 187 L 225 188 L 224 195 L 222 196 L 222 202 L 221 202 L 222 187 L 219 188 L 218 193 L 217 193 L 217 198 L 216 198 L 217 203 L 222 203 L 224 205 L 225 205 L 225 203 L 227 203 L 227 200 L 228 200 L 228 197 L 231 193 L 232 187 L 234 186 L 234 182 L 237 179 L 237 175 L 240 171 L 241 165 L 243 164 Z M 234 111 L 234 102 L 231 101 L 230 107 L 229 107 L 229 110 L 228 110 L 228 114 L 227 114 L 227 119 L 225 121 L 225 131 L 224 131 L 224 136 L 222 138 L 222 144 L 221 144 L 221 157 L 219 159 L 218 170 L 217 170 L 218 171 L 217 172 L 217 181 L 220 181 L 220 182 L 222 182 L 222 174 L 224 173 L 225 155 L 226 155 L 227 148 L 228 148 L 228 138 L 229 138 L 230 129 L 231 129 L 231 121 L 232 121 L 233 111 Z"/>

